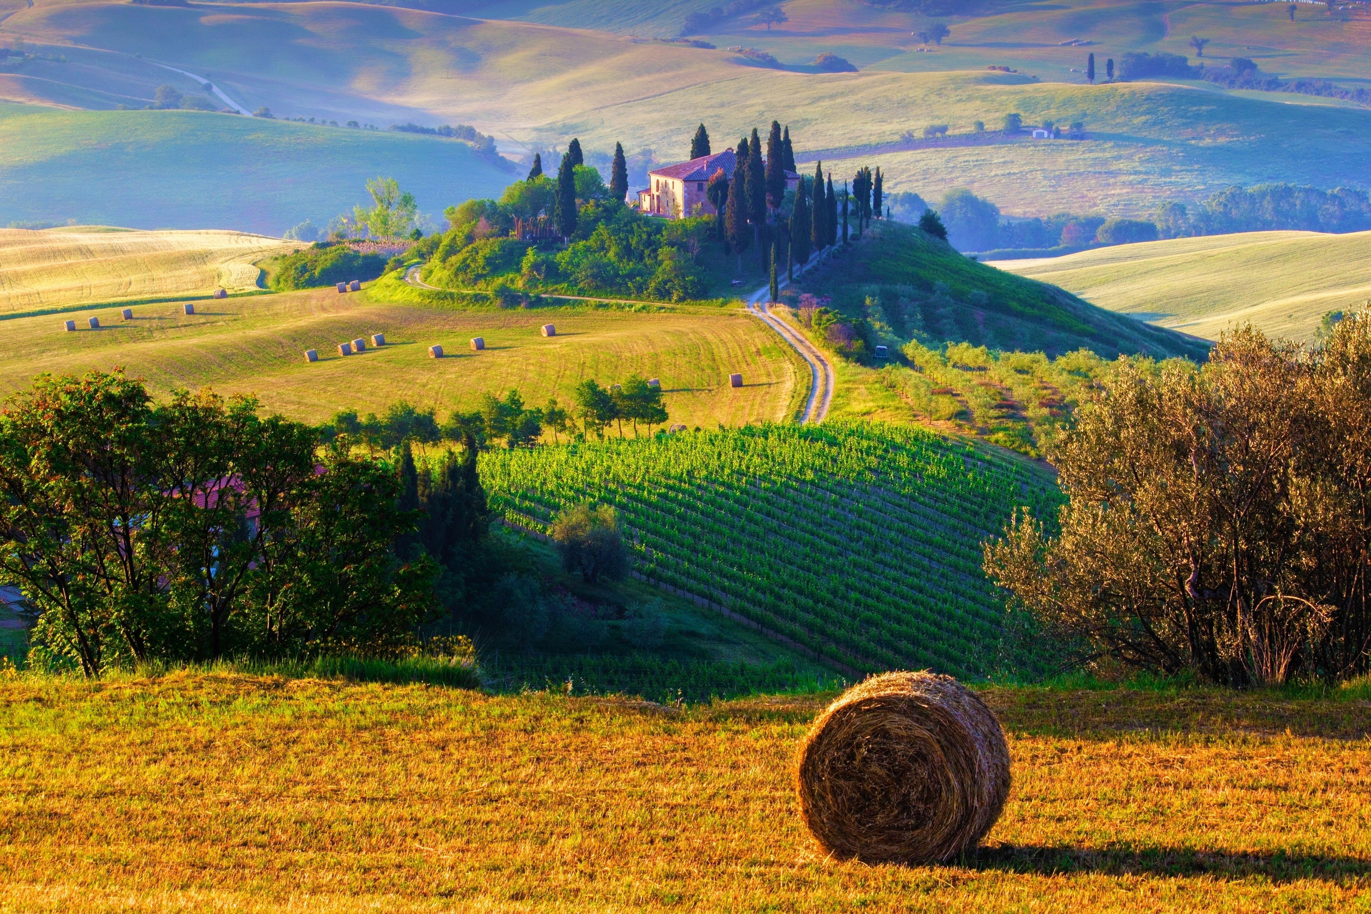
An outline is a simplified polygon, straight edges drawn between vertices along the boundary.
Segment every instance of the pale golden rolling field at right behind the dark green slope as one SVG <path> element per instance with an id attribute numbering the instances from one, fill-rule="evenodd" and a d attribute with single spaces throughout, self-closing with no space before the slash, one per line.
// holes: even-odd
<path id="1" fill-rule="evenodd" d="M 1371 232 L 1175 238 L 995 266 L 1211 340 L 1250 322 L 1311 341 L 1326 312 L 1371 299 Z"/>

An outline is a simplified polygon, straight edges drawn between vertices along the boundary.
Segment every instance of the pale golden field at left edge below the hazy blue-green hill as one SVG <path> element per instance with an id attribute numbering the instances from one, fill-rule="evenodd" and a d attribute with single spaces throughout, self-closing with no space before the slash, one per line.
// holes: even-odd
<path id="1" fill-rule="evenodd" d="M 254 260 L 284 249 L 240 232 L 0 229 L 0 314 L 250 292 L 260 275 Z"/>

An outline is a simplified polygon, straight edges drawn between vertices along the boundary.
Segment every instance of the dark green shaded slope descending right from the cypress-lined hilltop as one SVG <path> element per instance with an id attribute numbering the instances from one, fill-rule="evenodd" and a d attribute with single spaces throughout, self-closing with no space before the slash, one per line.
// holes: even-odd
<path id="1" fill-rule="evenodd" d="M 850 318 L 873 321 L 880 341 L 891 348 L 919 340 L 1047 355 L 1086 348 L 1111 359 L 1123 354 L 1202 359 L 1208 352 L 1198 340 L 979 263 L 897 222 L 876 223 L 866 238 L 795 289 L 831 297 L 832 307 Z"/>

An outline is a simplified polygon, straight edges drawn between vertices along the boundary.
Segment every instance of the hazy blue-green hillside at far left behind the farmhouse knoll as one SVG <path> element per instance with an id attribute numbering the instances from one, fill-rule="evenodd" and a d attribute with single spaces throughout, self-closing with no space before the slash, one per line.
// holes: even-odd
<path id="1" fill-rule="evenodd" d="M 134 7 L 130 7 L 130 10 Z M 0 103 L 0 225 L 324 229 L 395 177 L 422 212 L 498 195 L 510 175 L 452 140 L 192 111 L 60 111 Z"/>

